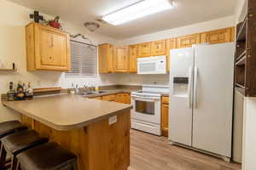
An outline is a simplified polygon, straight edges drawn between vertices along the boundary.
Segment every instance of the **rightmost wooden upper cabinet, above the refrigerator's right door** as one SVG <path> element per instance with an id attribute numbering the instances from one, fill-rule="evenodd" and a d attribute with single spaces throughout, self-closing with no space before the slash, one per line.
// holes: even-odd
<path id="1" fill-rule="evenodd" d="M 232 28 L 224 28 L 220 30 L 201 33 L 201 43 L 209 42 L 210 44 L 214 44 L 233 42 L 234 34 L 232 33 L 232 31 L 234 31 Z"/>

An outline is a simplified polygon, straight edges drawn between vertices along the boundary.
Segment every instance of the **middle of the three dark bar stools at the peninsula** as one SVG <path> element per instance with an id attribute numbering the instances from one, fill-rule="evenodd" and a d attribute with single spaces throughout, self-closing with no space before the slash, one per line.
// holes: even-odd
<path id="1" fill-rule="evenodd" d="M 17 159 L 16 156 L 22 151 L 29 150 L 38 144 L 48 142 L 47 138 L 41 138 L 34 130 L 23 130 L 17 133 L 9 134 L 1 139 L 3 150 L 11 156 L 11 170 L 15 170 Z M 2 158 L 6 160 L 6 156 Z"/>

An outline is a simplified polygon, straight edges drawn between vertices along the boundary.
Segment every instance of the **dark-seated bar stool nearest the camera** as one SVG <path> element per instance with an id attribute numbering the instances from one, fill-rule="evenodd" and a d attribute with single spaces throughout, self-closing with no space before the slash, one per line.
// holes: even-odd
<path id="1" fill-rule="evenodd" d="M 17 170 L 78 170 L 77 156 L 50 142 L 21 152 Z"/>

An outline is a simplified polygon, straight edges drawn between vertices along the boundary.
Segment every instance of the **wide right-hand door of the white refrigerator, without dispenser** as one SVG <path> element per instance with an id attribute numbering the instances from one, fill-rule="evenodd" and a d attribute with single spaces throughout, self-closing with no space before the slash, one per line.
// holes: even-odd
<path id="1" fill-rule="evenodd" d="M 234 43 L 195 47 L 193 142 L 231 156 Z"/>

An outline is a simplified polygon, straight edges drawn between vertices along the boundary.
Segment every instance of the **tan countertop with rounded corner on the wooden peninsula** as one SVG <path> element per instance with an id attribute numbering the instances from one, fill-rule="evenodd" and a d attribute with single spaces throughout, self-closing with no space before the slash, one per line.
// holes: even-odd
<path id="1" fill-rule="evenodd" d="M 122 92 L 124 93 L 125 91 Z M 111 93 L 113 92 L 109 91 L 109 94 Z M 128 112 L 132 108 L 132 105 L 88 99 L 76 94 L 56 95 L 22 101 L 2 101 L 2 103 L 10 109 L 56 130 L 85 127 L 92 122 Z"/>

